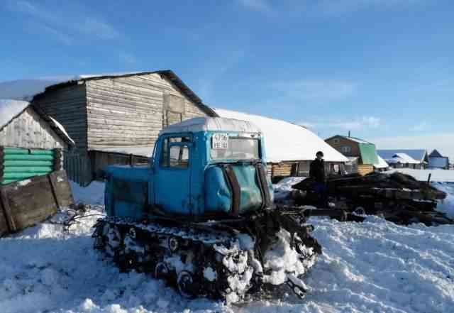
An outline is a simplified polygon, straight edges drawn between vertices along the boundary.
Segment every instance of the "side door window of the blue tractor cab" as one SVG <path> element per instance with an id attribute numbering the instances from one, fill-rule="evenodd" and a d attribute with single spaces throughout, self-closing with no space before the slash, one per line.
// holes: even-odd
<path id="1" fill-rule="evenodd" d="M 162 168 L 189 167 L 189 137 L 168 137 L 162 142 L 160 165 Z"/>

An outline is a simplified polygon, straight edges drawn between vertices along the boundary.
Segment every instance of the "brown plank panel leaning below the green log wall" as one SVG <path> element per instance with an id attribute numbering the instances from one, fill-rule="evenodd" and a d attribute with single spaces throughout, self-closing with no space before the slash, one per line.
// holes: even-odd
<path id="1" fill-rule="evenodd" d="M 65 171 L 0 187 L 0 236 L 32 226 L 74 204 Z"/>

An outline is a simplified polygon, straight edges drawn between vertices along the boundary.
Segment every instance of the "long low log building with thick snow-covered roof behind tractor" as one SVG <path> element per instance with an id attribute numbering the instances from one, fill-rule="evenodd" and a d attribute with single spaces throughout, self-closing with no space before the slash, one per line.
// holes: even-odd
<path id="1" fill-rule="evenodd" d="M 268 175 L 273 182 L 282 177 L 309 176 L 309 165 L 317 151 L 324 154 L 327 173 L 342 171 L 343 165 L 348 162 L 348 158 L 303 126 L 226 109 L 214 111 L 221 117 L 251 121 L 263 131 Z"/>

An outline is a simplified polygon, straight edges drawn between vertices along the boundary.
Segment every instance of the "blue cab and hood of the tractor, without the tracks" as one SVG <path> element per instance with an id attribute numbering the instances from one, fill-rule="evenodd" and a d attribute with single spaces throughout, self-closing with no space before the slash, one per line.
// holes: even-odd
<path id="1" fill-rule="evenodd" d="M 263 135 L 248 121 L 200 117 L 173 124 L 160 132 L 148 168 L 112 166 L 106 173 L 107 212 L 116 216 L 216 219 L 272 204 Z"/>

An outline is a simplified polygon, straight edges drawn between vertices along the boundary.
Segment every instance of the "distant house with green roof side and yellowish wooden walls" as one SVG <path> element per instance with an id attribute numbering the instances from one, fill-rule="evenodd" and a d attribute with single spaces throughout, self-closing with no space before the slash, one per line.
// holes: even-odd
<path id="1" fill-rule="evenodd" d="M 348 172 L 366 175 L 388 168 L 387 163 L 379 158 L 375 144 L 351 136 L 336 135 L 325 140 L 328 145 L 338 150 L 350 160 Z"/>

